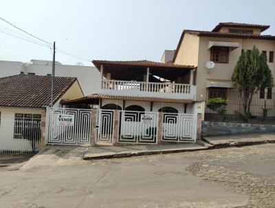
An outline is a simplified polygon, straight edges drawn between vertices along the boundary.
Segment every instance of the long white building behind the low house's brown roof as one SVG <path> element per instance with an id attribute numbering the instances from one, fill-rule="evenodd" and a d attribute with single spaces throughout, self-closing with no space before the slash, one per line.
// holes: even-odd
<path id="1" fill-rule="evenodd" d="M 30 63 L 0 61 L 0 77 L 16 74 L 52 76 L 52 61 L 34 59 Z M 76 77 L 85 95 L 97 92 L 100 85 L 100 73 L 96 67 L 63 65 L 56 61 L 55 76 Z"/>

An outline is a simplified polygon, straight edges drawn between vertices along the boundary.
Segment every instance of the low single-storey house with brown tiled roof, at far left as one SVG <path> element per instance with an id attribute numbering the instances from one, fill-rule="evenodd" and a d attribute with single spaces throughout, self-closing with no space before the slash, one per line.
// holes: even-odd
<path id="1" fill-rule="evenodd" d="M 51 85 L 51 76 L 19 74 L 0 78 L 0 153 L 31 151 L 28 140 L 40 141 L 41 118 L 51 104 Z M 55 78 L 54 107 L 59 107 L 61 100 L 82 96 L 76 78 Z"/>

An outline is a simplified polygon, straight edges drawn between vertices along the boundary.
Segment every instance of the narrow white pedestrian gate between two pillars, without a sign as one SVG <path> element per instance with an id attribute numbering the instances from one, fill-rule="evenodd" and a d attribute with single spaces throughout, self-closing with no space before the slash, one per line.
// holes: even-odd
<path id="1" fill-rule="evenodd" d="M 113 142 L 113 114 L 115 110 L 98 110 L 96 143 Z"/>

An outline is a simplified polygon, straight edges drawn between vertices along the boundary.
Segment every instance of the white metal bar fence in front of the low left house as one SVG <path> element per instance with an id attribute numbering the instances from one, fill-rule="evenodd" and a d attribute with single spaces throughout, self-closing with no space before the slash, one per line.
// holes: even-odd
<path id="1" fill-rule="evenodd" d="M 40 141 L 40 120 L 1 119 L 0 154 L 36 154 Z"/>

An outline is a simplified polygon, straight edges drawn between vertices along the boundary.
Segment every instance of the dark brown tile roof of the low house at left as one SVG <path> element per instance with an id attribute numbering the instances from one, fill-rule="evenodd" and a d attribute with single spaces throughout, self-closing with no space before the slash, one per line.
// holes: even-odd
<path id="1" fill-rule="evenodd" d="M 54 102 L 77 81 L 75 77 L 55 77 Z M 45 107 L 51 103 L 52 76 L 19 74 L 0 78 L 0 106 Z"/>

